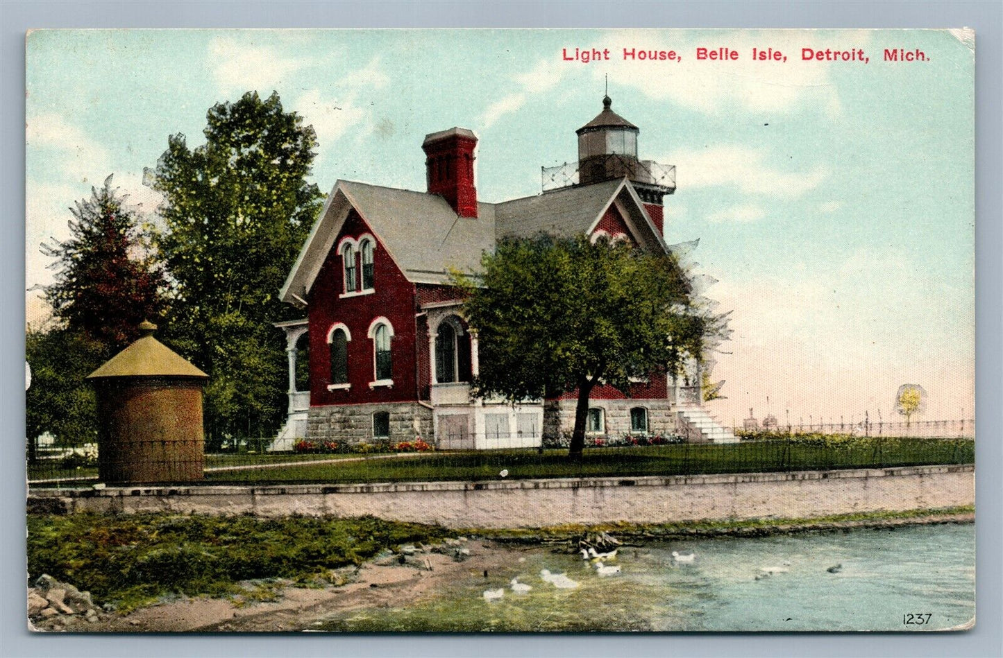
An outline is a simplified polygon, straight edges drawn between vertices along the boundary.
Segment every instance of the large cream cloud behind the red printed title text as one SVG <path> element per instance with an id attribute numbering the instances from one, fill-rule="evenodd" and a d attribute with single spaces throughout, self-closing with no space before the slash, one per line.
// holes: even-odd
<path id="1" fill-rule="evenodd" d="M 627 85 L 656 99 L 707 113 L 731 108 L 753 112 L 789 112 L 814 105 L 829 116 L 842 112 L 829 75 L 831 64 L 799 60 L 802 47 L 850 49 L 870 43 L 867 31 L 768 30 L 741 32 L 630 31 L 604 35 L 595 46 L 610 49 L 610 61 L 595 67 L 610 83 Z M 697 60 L 696 49 L 727 47 L 737 51 L 735 61 Z M 752 48 L 773 48 L 787 62 L 752 60 Z M 624 59 L 624 49 L 675 50 L 679 61 Z M 793 64 L 793 65 L 791 65 Z M 841 62 L 843 66 L 848 66 Z M 857 65 L 857 64 L 855 64 Z M 863 64 L 861 64 L 863 66 Z"/>

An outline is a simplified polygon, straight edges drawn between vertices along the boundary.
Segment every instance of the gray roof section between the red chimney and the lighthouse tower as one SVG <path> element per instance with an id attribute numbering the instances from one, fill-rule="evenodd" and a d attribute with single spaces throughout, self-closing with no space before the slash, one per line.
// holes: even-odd
<path id="1" fill-rule="evenodd" d="M 497 237 L 581 235 L 589 230 L 621 184 L 623 179 L 605 180 L 497 203 L 495 233 Z"/>

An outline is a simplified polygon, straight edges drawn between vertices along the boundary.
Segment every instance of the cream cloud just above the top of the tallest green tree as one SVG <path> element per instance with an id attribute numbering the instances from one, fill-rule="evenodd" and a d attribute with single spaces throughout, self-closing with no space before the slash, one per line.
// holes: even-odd
<path id="1" fill-rule="evenodd" d="M 289 76 L 303 68 L 308 60 L 284 57 L 271 46 L 256 46 L 253 39 L 221 36 L 209 44 L 209 63 L 221 91 L 257 90 L 268 96 Z"/>

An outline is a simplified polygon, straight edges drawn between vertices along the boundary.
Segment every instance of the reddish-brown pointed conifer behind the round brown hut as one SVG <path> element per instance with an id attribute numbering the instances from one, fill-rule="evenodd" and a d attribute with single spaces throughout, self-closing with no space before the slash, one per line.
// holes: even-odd
<path id="1" fill-rule="evenodd" d="M 159 316 L 165 284 L 124 198 L 108 176 L 70 208 L 71 237 L 42 244 L 42 252 L 57 259 L 55 282 L 45 287 L 56 317 L 111 352 L 138 338 L 143 319 Z"/>

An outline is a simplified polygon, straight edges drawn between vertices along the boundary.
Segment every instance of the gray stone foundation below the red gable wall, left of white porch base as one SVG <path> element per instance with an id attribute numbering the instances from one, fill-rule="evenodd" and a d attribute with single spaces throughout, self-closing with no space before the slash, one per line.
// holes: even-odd
<path id="1" fill-rule="evenodd" d="M 390 414 L 390 436 L 373 436 L 373 414 Z M 311 407 L 307 414 L 307 439 L 346 444 L 414 441 L 421 437 L 431 443 L 432 410 L 416 403 L 376 405 L 330 405 Z"/>

